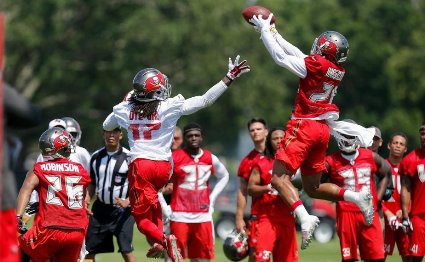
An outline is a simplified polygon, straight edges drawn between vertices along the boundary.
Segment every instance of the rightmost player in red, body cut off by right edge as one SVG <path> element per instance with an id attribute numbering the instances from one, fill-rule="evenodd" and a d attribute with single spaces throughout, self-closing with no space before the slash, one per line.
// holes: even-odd
<path id="1" fill-rule="evenodd" d="M 400 163 L 402 227 L 409 235 L 412 261 L 425 256 L 425 122 L 419 127 L 420 146 Z"/>

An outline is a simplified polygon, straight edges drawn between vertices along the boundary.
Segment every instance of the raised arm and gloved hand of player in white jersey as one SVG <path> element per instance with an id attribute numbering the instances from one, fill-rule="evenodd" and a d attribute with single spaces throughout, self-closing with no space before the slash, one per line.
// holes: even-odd
<path id="1" fill-rule="evenodd" d="M 205 94 L 202 96 L 194 96 L 189 99 L 186 99 L 183 104 L 182 114 L 190 115 L 196 111 L 205 108 L 213 104 L 223 93 L 227 90 L 227 87 L 238 78 L 240 75 L 250 71 L 250 67 L 246 60 L 239 62 L 239 55 L 236 57 L 235 61 L 229 58 L 229 70 L 223 79 L 211 87 Z"/>

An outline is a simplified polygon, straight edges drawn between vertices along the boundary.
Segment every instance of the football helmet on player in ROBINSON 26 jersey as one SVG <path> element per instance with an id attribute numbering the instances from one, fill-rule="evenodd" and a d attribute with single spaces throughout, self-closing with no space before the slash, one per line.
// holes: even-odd
<path id="1" fill-rule="evenodd" d="M 72 137 L 63 128 L 52 127 L 41 134 L 38 146 L 44 158 L 68 158 L 71 155 Z"/>

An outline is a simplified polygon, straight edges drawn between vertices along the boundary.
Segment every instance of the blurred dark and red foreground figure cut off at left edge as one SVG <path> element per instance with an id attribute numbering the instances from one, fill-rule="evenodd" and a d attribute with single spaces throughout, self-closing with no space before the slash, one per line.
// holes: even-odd
<path id="1" fill-rule="evenodd" d="M 1 68 L 1 64 L 0 64 Z M 1 73 L 1 72 L 0 72 Z M 0 81 L 2 81 L 0 77 Z M 2 83 L 0 83 L 2 84 Z M 41 122 L 40 110 L 31 104 L 9 85 L 3 85 L 3 130 L 2 167 L 0 176 L 0 261 L 17 262 L 20 260 L 18 240 L 16 237 L 16 178 L 12 169 L 11 151 L 16 148 L 9 144 L 9 134 L 17 129 L 35 127 Z"/>

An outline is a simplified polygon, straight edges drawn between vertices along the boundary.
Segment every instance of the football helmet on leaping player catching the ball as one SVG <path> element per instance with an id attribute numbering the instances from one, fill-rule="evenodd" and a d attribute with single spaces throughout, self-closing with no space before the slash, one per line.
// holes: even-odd
<path id="1" fill-rule="evenodd" d="M 314 40 L 310 54 L 318 54 L 332 62 L 342 63 L 347 60 L 348 41 L 336 31 L 326 31 Z"/>

